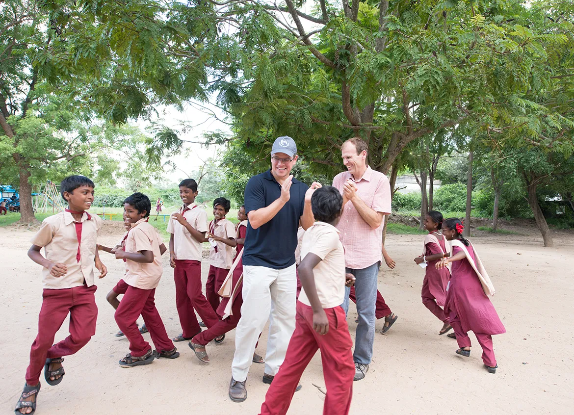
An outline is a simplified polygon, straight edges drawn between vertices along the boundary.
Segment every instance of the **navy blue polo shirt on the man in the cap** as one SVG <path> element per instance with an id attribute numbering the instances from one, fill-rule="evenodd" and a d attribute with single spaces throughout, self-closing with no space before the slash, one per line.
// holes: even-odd
<path id="1" fill-rule="evenodd" d="M 295 263 L 297 229 L 309 187 L 293 177 L 289 201 L 269 222 L 254 229 L 247 224 L 243 265 L 284 269 Z M 251 177 L 245 187 L 245 214 L 267 207 L 281 196 L 281 185 L 271 170 Z"/>

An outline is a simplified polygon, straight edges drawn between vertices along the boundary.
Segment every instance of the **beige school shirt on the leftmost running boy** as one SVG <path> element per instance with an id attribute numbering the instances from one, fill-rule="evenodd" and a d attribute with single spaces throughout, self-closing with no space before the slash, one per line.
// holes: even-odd
<path id="1" fill-rule="evenodd" d="M 73 288 L 94 285 L 94 260 L 96 257 L 96 237 L 102 219 L 98 215 L 84 212 L 82 215 L 82 239 L 80 243 L 80 262 L 77 262 L 76 226 L 70 212 L 60 212 L 42 221 L 40 230 L 30 242 L 44 247 L 48 261 L 65 263 L 68 273 L 63 277 L 53 277 L 48 268 L 42 270 L 42 286 L 48 289 Z"/>

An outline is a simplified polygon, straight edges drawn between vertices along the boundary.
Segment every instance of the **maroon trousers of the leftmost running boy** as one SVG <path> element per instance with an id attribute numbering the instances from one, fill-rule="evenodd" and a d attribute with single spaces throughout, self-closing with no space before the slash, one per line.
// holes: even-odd
<path id="1" fill-rule="evenodd" d="M 30 349 L 30 366 L 26 370 L 26 383 L 36 386 L 47 358 L 73 355 L 90 341 L 96 332 L 98 307 L 94 299 L 95 285 L 44 289 L 42 308 L 38 316 L 38 335 Z M 54 344 L 56 332 L 70 315 L 70 335 Z"/>

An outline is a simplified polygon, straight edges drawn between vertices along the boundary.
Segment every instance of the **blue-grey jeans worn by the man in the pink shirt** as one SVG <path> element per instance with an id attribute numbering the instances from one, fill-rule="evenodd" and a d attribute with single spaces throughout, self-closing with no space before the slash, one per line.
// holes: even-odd
<path id="1" fill-rule="evenodd" d="M 373 342 L 375 341 L 375 304 L 377 303 L 377 276 L 380 262 L 363 269 L 346 268 L 345 272 L 355 276 L 355 296 L 359 325 L 355 333 L 355 363 L 369 364 L 373 358 Z M 349 311 L 349 294 L 351 289 L 345 287 L 343 309 Z"/>

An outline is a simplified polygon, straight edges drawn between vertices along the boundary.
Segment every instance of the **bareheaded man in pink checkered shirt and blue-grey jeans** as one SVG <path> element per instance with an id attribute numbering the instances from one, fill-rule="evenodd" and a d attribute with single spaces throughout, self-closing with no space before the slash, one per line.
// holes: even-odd
<path id="1" fill-rule="evenodd" d="M 359 324 L 356 328 L 355 381 L 364 378 L 373 356 L 377 276 L 382 261 L 381 241 L 384 215 L 391 211 L 391 189 L 385 174 L 366 164 L 367 143 L 358 137 L 341 147 L 347 167 L 333 179 L 343 195 L 343 212 L 337 228 L 345 249 L 346 272 L 355 276 Z M 346 288 L 343 308 L 348 312 L 350 289 Z"/>

